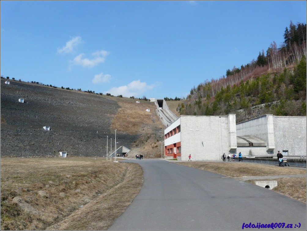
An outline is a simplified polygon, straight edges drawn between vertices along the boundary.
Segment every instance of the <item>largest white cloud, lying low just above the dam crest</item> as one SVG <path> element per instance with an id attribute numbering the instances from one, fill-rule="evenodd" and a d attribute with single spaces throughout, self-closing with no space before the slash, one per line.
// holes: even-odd
<path id="1" fill-rule="evenodd" d="M 106 91 L 106 93 L 110 93 L 111 95 L 122 95 L 125 97 L 141 97 L 143 93 L 151 90 L 155 87 L 155 84 L 147 85 L 146 82 L 141 82 L 140 80 L 135 80 L 130 82 L 128 85 L 120 86 L 120 87 L 113 87 L 110 90 Z"/>

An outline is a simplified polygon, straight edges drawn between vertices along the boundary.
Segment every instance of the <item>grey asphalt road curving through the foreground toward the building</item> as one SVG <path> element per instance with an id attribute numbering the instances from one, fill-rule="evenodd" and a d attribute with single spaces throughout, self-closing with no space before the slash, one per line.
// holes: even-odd
<path id="1" fill-rule="evenodd" d="M 109 230 L 242 230 L 243 223 L 258 229 L 250 222 L 306 230 L 306 205 L 272 190 L 164 160 L 127 162 L 142 166 L 144 183 Z"/>

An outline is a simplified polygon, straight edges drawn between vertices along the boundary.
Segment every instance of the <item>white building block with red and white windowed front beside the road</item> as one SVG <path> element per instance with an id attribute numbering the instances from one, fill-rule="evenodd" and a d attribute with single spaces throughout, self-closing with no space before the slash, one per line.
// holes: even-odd
<path id="1" fill-rule="evenodd" d="M 237 148 L 235 114 L 228 116 L 181 116 L 164 130 L 168 158 L 187 161 L 219 160 Z"/>

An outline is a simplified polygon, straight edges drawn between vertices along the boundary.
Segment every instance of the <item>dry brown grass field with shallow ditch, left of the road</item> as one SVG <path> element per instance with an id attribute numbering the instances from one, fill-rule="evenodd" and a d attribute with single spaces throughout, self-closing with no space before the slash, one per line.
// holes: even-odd
<path id="1" fill-rule="evenodd" d="M 98 216 L 107 229 L 140 190 L 142 177 L 134 172 L 142 176 L 139 165 L 98 158 L 2 157 L 1 230 L 45 229 L 70 214 L 64 227 L 91 229 Z M 84 218 L 74 220 L 75 212 Z"/>

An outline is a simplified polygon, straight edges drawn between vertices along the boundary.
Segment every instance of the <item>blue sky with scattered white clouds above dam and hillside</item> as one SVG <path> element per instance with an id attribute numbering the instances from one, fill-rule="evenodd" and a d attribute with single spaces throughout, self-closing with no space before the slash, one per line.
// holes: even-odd
<path id="1" fill-rule="evenodd" d="M 306 1 L 1 1 L 1 76 L 186 97 L 279 46 Z"/>

